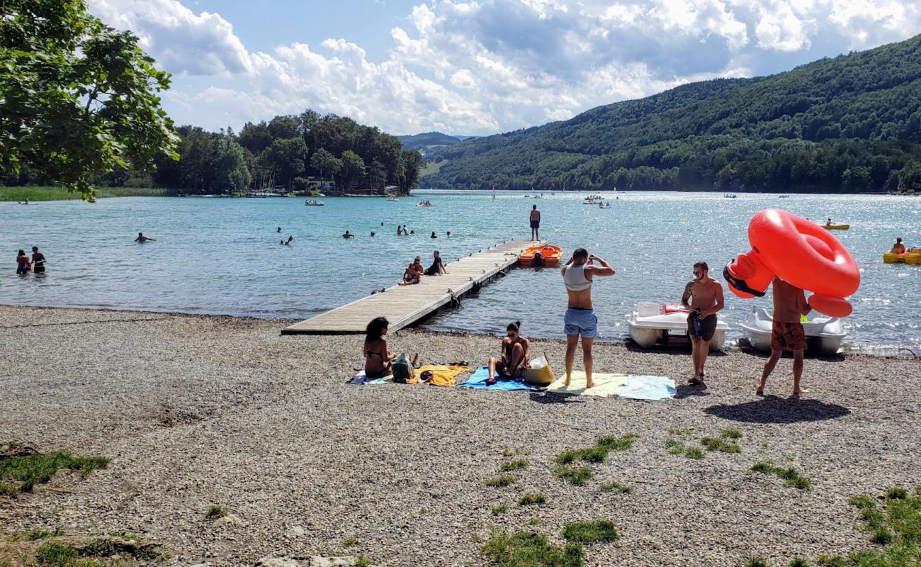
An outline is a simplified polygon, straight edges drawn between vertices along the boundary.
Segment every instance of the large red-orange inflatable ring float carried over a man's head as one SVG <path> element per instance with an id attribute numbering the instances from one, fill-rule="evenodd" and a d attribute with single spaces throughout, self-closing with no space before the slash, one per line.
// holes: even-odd
<path id="1" fill-rule="evenodd" d="M 767 208 L 749 222 L 752 250 L 723 270 L 729 289 L 742 299 L 764 296 L 775 277 L 812 291 L 810 307 L 832 317 L 846 317 L 845 298 L 860 287 L 860 270 L 845 245 L 832 233 L 785 210 Z"/>

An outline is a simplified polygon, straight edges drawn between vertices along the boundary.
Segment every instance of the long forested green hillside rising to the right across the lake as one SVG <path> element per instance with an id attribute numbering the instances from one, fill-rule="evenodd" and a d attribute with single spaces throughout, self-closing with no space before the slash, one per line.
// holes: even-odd
<path id="1" fill-rule="evenodd" d="M 921 35 L 440 148 L 424 187 L 921 191 Z"/>

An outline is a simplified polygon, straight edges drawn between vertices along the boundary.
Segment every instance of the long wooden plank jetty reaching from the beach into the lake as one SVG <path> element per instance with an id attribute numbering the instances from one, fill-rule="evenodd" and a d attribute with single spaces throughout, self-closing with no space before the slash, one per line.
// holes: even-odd
<path id="1" fill-rule="evenodd" d="M 282 330 L 282 335 L 361 334 L 371 319 L 381 316 L 390 320 L 391 331 L 397 331 L 435 313 L 474 287 L 483 285 L 518 262 L 519 255 L 526 248 L 538 243 L 543 242 L 503 242 L 447 264 L 446 275 L 423 276 L 420 283 L 412 286 L 393 286 L 288 326 Z"/>

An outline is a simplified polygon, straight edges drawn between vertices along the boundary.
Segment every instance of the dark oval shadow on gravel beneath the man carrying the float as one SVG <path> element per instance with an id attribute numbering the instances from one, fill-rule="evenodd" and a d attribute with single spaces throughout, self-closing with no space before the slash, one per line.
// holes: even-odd
<path id="1" fill-rule="evenodd" d="M 708 413 L 717 418 L 748 423 L 799 423 L 843 418 L 851 410 L 837 404 L 826 404 L 817 399 L 764 396 L 761 399 L 733 404 L 710 406 Z"/>

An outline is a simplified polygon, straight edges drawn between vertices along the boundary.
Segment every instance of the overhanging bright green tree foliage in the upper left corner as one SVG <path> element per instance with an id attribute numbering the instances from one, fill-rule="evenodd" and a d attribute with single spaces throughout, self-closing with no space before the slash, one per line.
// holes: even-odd
<path id="1" fill-rule="evenodd" d="M 93 179 L 175 156 L 169 74 L 83 0 L 0 3 L 0 169 L 93 199 Z"/>

